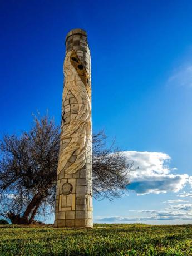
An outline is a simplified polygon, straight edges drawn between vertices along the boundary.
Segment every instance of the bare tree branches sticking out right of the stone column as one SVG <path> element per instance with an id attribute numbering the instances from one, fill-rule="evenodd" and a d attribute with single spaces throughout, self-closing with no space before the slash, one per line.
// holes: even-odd
<path id="1" fill-rule="evenodd" d="M 106 135 L 100 131 L 92 136 L 93 191 L 96 199 L 110 201 L 121 197 L 129 185 L 129 173 L 134 162 L 127 161 L 124 152 L 107 147 Z"/>

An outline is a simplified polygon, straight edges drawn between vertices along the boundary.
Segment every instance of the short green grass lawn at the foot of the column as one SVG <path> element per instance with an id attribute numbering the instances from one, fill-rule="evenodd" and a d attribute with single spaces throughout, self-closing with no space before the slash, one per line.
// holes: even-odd
<path id="1" fill-rule="evenodd" d="M 0 255 L 192 255 L 192 225 L 0 226 Z"/>

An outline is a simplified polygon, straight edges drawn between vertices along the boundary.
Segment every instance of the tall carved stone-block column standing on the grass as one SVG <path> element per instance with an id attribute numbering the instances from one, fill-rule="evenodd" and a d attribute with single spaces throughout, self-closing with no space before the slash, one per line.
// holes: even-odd
<path id="1" fill-rule="evenodd" d="M 91 60 L 87 33 L 66 36 L 55 227 L 92 227 Z"/>

